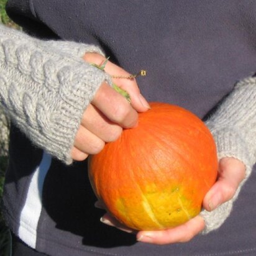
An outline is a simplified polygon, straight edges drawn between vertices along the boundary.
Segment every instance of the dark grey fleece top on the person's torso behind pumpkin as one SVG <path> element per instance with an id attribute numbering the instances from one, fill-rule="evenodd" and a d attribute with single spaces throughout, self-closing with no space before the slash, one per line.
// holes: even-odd
<path id="1" fill-rule="evenodd" d="M 27 11 L 22 12 L 17 2 L 23 2 Z M 255 1 L 34 0 L 27 5 L 9 1 L 9 13 L 14 16 L 17 10 L 23 25 L 34 34 L 45 36 L 47 32 L 35 32 L 37 25 L 30 19 L 46 25 L 60 39 L 100 45 L 110 60 L 130 73 L 147 70 L 147 76 L 137 78 L 137 83 L 148 101 L 178 104 L 200 118 L 232 90 L 237 80 L 256 70 Z M 12 129 L 11 158 L 15 161 L 9 165 L 5 192 L 7 210 L 12 210 L 9 214 L 16 219 L 9 221 L 16 234 L 34 170 L 43 161 L 49 163 L 40 150 L 20 137 L 19 131 Z M 34 160 L 30 161 L 28 153 L 34 154 Z M 198 235 L 186 244 L 158 246 L 136 242 L 134 235 L 99 222 L 103 211 L 93 206 L 95 197 L 86 168 L 86 161 L 65 167 L 51 160 L 37 219 L 34 242 L 38 250 L 52 255 L 256 253 L 255 171 L 220 229 Z M 17 201 L 20 203 L 16 205 Z"/>

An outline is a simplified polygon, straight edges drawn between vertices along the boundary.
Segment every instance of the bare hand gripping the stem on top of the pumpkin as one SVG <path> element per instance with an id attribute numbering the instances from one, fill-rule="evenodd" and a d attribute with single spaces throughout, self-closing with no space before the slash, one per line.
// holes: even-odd
<path id="1" fill-rule="evenodd" d="M 98 53 L 86 53 L 86 62 L 101 65 L 106 58 Z M 127 76 L 129 73 L 111 62 L 104 69 L 109 74 Z M 80 128 L 71 149 L 74 160 L 85 160 L 89 154 L 100 152 L 105 142 L 116 140 L 122 128 L 134 127 L 137 124 L 137 112 L 149 109 L 149 104 L 140 94 L 135 79 L 113 79 L 117 86 L 125 89 L 131 98 L 131 104 L 106 83 L 100 86 L 93 101 L 83 114 Z"/>

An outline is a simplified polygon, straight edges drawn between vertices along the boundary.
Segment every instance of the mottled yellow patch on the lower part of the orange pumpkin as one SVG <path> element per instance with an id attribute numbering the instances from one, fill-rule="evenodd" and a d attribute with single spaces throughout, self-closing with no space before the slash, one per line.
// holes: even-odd
<path id="1" fill-rule="evenodd" d="M 154 185 L 150 187 L 153 188 Z M 199 208 L 194 209 L 191 200 L 183 196 L 181 190 L 178 186 L 171 186 L 164 191 L 148 190 L 147 193 L 140 194 L 141 201 L 134 204 L 130 204 L 125 197 L 118 198 L 117 219 L 133 229 L 155 230 L 156 227 L 166 229 L 178 226 L 199 213 Z M 141 213 L 144 216 L 147 227 L 145 223 L 141 226 L 141 216 L 134 213 Z"/>

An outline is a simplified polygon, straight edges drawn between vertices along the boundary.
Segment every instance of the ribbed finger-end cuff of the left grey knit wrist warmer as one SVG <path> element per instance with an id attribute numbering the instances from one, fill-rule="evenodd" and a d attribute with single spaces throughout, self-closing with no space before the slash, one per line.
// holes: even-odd
<path id="1" fill-rule="evenodd" d="M 45 135 L 51 135 L 49 139 L 52 139 L 52 143 L 48 144 L 47 151 L 70 164 L 70 152 L 83 112 L 99 86 L 109 78 L 106 73 L 94 66 L 81 68 L 80 65 L 63 68 L 58 75 L 62 83 L 59 91 L 61 101 L 58 103 L 58 111 L 49 116 L 52 127 Z"/>

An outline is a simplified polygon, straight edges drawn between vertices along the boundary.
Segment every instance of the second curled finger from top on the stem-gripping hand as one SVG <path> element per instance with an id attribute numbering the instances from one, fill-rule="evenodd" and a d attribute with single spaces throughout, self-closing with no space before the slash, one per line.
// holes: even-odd
<path id="1" fill-rule="evenodd" d="M 86 108 L 81 120 L 81 125 L 104 142 L 117 140 L 122 133 L 121 126 L 107 119 L 107 117 L 92 104 L 89 104 Z"/>

